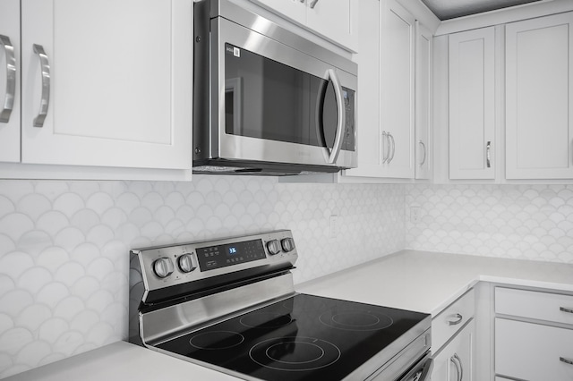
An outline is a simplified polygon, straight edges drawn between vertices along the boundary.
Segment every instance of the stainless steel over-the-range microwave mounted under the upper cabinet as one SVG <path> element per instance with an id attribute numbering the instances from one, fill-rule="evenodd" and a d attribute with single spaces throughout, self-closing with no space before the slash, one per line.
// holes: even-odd
<path id="1" fill-rule="evenodd" d="M 357 65 L 228 0 L 194 3 L 193 171 L 356 166 Z"/>

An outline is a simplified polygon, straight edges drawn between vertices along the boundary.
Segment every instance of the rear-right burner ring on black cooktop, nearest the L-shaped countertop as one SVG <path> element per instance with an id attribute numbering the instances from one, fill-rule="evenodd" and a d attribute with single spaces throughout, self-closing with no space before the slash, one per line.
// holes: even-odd
<path id="1" fill-rule="evenodd" d="M 372 311 L 345 310 L 325 312 L 319 318 L 321 323 L 346 331 L 376 331 L 388 328 L 394 321 L 386 315 Z"/>

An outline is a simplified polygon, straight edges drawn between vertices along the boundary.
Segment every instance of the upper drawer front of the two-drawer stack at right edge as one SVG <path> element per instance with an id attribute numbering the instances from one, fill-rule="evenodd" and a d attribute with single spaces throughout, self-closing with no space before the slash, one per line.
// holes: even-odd
<path id="1" fill-rule="evenodd" d="M 573 296 L 497 287 L 495 312 L 573 325 Z"/>

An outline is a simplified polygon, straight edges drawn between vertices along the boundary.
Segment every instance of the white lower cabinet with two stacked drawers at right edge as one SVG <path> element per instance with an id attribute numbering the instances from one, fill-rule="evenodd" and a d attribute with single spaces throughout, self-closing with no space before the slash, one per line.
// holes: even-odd
<path id="1" fill-rule="evenodd" d="M 496 376 L 573 380 L 571 295 L 497 287 L 495 313 Z"/>

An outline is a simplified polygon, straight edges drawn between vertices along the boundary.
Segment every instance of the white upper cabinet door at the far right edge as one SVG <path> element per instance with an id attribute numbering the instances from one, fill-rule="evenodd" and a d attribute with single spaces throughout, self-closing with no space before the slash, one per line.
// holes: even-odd
<path id="1" fill-rule="evenodd" d="M 573 13 L 506 27 L 506 176 L 573 178 Z"/>

